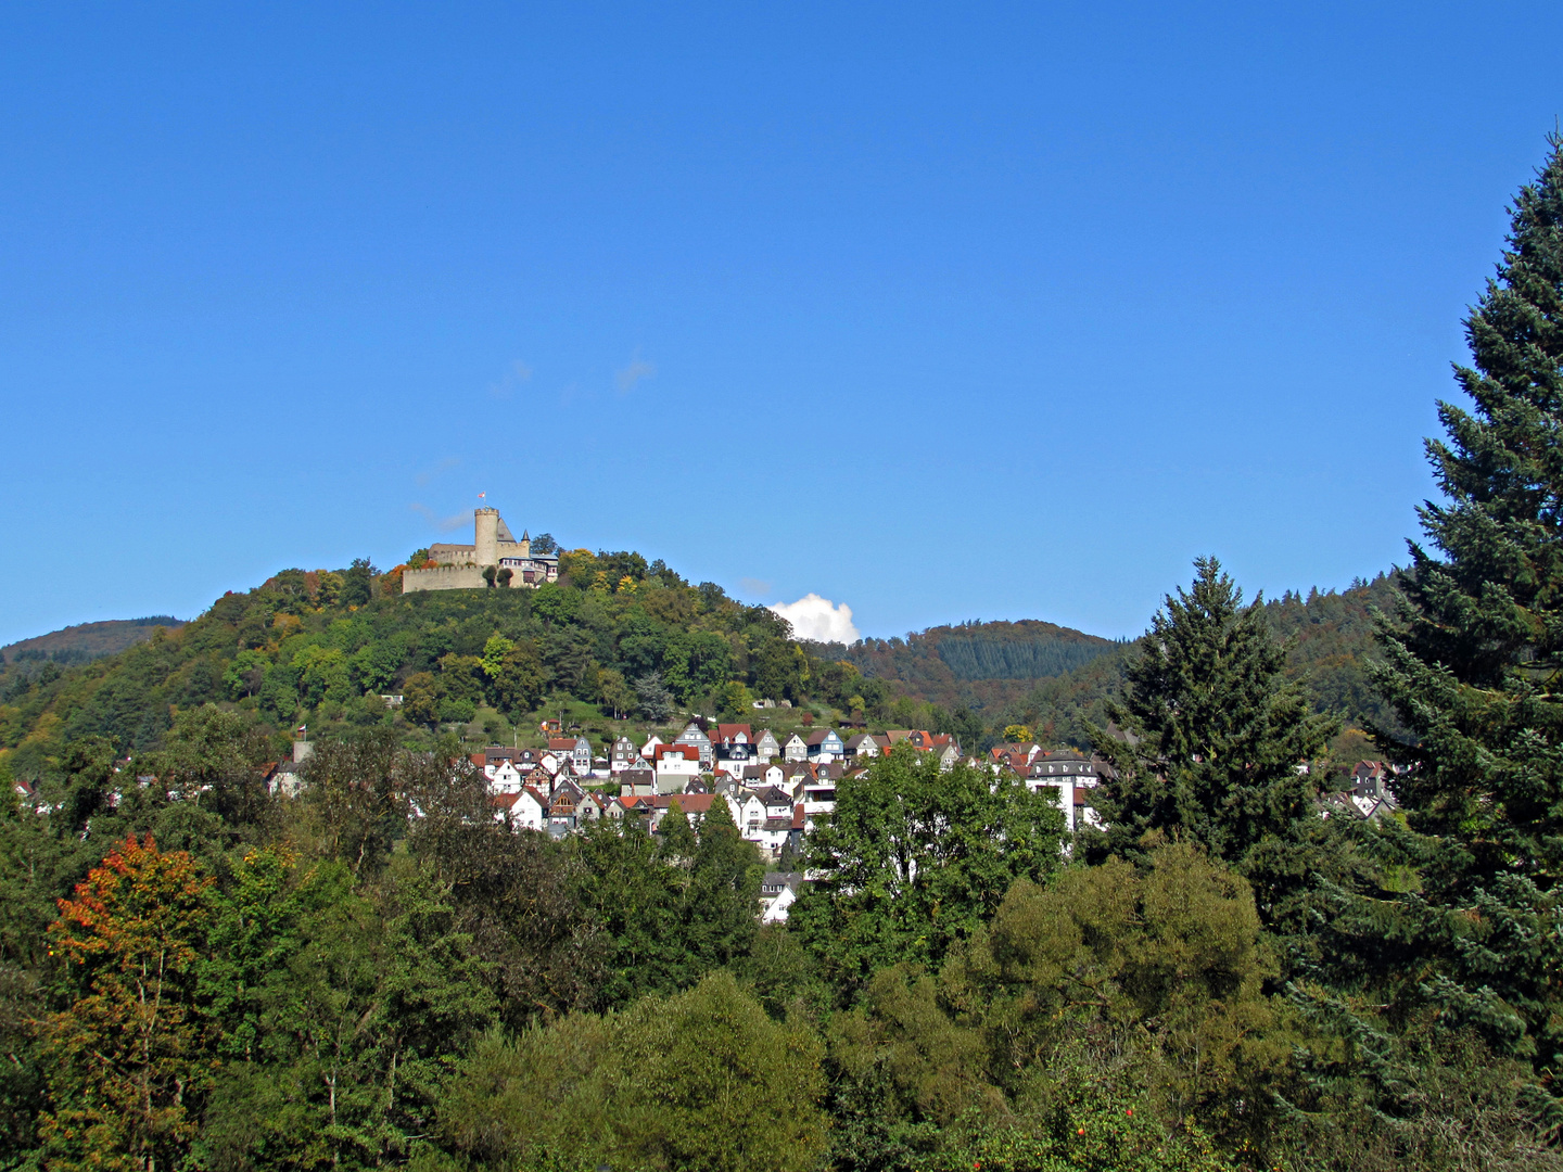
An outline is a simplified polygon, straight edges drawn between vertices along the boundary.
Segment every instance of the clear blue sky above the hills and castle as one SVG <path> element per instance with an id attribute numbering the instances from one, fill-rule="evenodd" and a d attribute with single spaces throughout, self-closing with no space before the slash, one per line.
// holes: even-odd
<path id="1" fill-rule="evenodd" d="M 1560 44 L 1555 3 L 8 5 L 0 642 L 391 566 L 478 492 L 871 634 L 1136 634 L 1208 552 L 1346 586 L 1432 491 Z"/>

